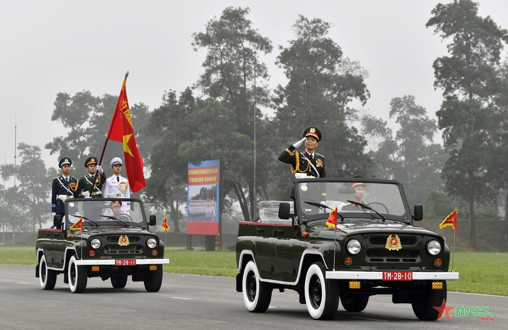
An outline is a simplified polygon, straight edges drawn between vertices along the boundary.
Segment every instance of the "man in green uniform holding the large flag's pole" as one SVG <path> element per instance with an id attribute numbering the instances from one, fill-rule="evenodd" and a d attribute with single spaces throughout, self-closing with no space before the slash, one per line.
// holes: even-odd
<path id="1" fill-rule="evenodd" d="M 106 175 L 104 174 L 104 170 L 100 165 L 97 165 L 96 157 L 88 157 L 85 161 L 85 167 L 88 170 L 86 175 L 83 175 L 79 178 L 78 181 L 78 197 L 79 198 L 100 198 L 102 195 L 102 187 L 104 187 L 104 182 L 106 181 Z M 90 194 L 90 189 L 92 188 L 93 177 L 96 172 L 99 171 L 99 175 L 97 175 L 96 183 L 93 185 L 93 191 Z M 91 220 L 100 219 L 101 208 L 99 208 L 99 203 L 83 203 L 83 212 L 85 218 Z"/>

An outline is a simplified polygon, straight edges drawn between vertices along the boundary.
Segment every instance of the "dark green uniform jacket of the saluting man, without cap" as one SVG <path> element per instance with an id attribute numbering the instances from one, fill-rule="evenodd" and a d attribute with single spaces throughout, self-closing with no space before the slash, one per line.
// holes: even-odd
<path id="1" fill-rule="evenodd" d="M 290 145 L 280 154 L 279 161 L 291 164 L 291 171 L 293 173 L 305 173 L 309 176 L 314 177 L 326 177 L 325 156 L 314 152 L 314 159 L 312 160 L 312 165 L 314 165 L 315 169 L 317 170 L 317 173 L 319 173 L 319 175 L 317 175 L 316 171 L 314 170 L 314 167 L 310 166 L 311 161 L 308 159 L 309 154 L 305 151 L 295 151 L 295 149 L 296 148 L 293 145 Z M 323 200 L 326 200 L 326 191 L 324 187 L 322 187 L 321 189 L 321 196 Z M 291 191 L 291 198 L 295 198 L 294 188 Z"/>

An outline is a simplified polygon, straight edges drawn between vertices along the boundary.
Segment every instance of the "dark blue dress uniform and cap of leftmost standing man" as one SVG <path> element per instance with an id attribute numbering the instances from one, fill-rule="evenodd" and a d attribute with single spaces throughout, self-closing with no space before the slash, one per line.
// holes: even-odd
<path id="1" fill-rule="evenodd" d="M 58 167 L 61 168 L 65 164 L 72 165 L 72 160 L 69 157 L 62 158 L 58 163 Z M 61 174 L 60 176 L 53 178 L 53 184 L 51 186 L 51 212 L 61 215 L 62 217 L 65 216 L 65 203 L 60 197 L 67 196 L 66 199 L 77 198 L 77 188 L 78 179 L 71 175 L 65 177 Z M 77 206 L 70 204 L 69 211 L 70 214 L 74 214 L 77 212 Z"/>

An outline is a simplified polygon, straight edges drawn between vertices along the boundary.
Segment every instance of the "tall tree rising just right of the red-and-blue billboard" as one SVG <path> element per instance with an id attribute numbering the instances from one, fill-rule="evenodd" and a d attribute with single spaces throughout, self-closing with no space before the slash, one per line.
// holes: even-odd
<path id="1" fill-rule="evenodd" d="M 205 141 L 189 141 L 187 152 L 190 157 L 192 152 L 203 151 L 204 145 L 217 150 L 222 149 L 217 148 L 217 145 L 224 141 L 232 144 L 228 151 L 223 149 L 224 153 L 215 153 L 213 158 L 216 159 L 216 155 L 221 155 L 219 158 L 223 160 L 225 166 L 223 182 L 225 191 L 234 191 L 245 220 L 253 218 L 255 214 L 255 188 L 259 191 L 259 187 L 263 187 L 268 181 L 267 175 L 258 175 L 256 187 L 254 186 L 253 155 L 250 151 L 254 145 L 255 120 L 258 123 L 257 137 L 263 137 L 260 134 L 263 130 L 263 115 L 258 108 L 254 109 L 254 104 L 268 105 L 270 102 L 269 90 L 265 84 L 268 71 L 266 65 L 259 60 L 259 53 L 267 54 L 272 51 L 270 40 L 252 27 L 252 22 L 247 19 L 248 14 L 248 8 L 228 7 L 218 19 L 208 21 L 205 32 L 193 34 L 194 49 L 207 50 L 203 62 L 204 73 L 200 76 L 196 87 L 200 88 L 203 95 L 210 100 L 204 100 L 203 107 L 200 106 L 201 110 L 198 111 L 217 110 L 216 114 L 219 116 L 227 112 L 228 120 L 223 123 L 225 126 L 216 128 L 224 128 L 231 132 L 224 132 L 226 135 L 224 138 L 228 140 L 220 139 L 223 137 L 221 132 L 215 130 L 206 136 Z M 212 100 L 220 101 L 220 104 Z M 215 121 L 215 118 L 210 119 Z M 238 158 L 233 159 L 230 157 L 232 154 Z M 197 160 L 205 160 L 203 156 Z M 261 152 L 258 159 L 262 158 Z"/>

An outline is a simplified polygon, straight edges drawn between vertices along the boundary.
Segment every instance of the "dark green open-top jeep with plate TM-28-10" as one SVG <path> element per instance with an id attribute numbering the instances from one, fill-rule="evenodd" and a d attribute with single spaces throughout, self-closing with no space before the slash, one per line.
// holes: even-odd
<path id="1" fill-rule="evenodd" d="M 449 271 L 443 237 L 415 226 L 423 207 L 411 215 L 398 181 L 305 178 L 294 188 L 294 203 L 261 202 L 257 221 L 239 223 L 236 290 L 247 310 L 265 312 L 273 289 L 292 289 L 314 319 L 333 318 L 339 302 L 360 312 L 375 294 L 411 304 L 419 319 L 437 319 L 433 307 L 459 273 Z M 336 230 L 326 225 L 335 207 Z"/>

